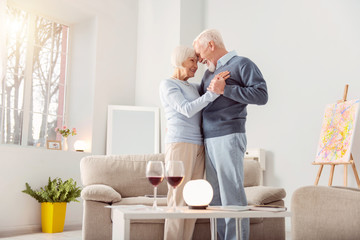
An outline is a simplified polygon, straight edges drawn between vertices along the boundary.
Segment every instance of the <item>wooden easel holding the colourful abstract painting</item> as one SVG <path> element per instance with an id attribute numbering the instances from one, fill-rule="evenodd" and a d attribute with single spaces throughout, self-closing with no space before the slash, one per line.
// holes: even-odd
<path id="1" fill-rule="evenodd" d="M 345 85 L 345 90 L 344 90 L 344 96 L 343 96 L 343 99 L 342 99 L 342 101 L 344 101 L 344 102 L 346 101 L 346 98 L 347 98 L 348 88 L 349 88 L 349 85 L 346 84 Z M 360 179 L 359 179 L 359 175 L 358 175 L 357 170 L 356 170 L 356 166 L 355 166 L 355 163 L 354 163 L 352 153 L 350 153 L 350 161 L 349 162 L 343 162 L 343 163 L 332 163 L 332 162 L 329 162 L 329 163 L 327 163 L 327 162 L 317 163 L 317 162 L 313 162 L 312 164 L 313 165 L 320 165 L 318 174 L 316 176 L 315 185 L 318 185 L 318 183 L 319 183 L 320 175 L 321 175 L 321 172 L 322 172 L 322 169 L 323 169 L 324 165 L 331 165 L 330 178 L 329 178 L 329 183 L 328 183 L 329 186 L 332 185 L 335 166 L 336 165 L 344 165 L 344 186 L 346 187 L 347 186 L 347 172 L 348 172 L 347 167 L 348 167 L 349 164 L 351 164 L 352 169 L 354 171 L 354 176 L 355 176 L 358 188 L 360 188 Z"/>

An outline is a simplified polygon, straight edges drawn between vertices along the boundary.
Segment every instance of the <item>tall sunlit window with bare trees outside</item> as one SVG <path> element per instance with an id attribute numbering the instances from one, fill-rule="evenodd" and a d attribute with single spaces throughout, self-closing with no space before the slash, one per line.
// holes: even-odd
<path id="1" fill-rule="evenodd" d="M 69 27 L 12 6 L 6 13 L 0 143 L 44 147 L 64 121 Z"/>

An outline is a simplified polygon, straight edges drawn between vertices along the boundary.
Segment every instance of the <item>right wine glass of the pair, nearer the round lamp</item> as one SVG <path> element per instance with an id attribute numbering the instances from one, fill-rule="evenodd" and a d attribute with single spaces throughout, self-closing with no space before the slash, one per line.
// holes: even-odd
<path id="1" fill-rule="evenodd" d="M 184 180 L 184 163 L 182 161 L 168 161 L 165 164 L 165 177 L 171 187 L 174 188 L 173 200 L 174 200 L 174 212 L 176 211 L 176 199 L 175 191 L 176 187 L 179 186 Z"/>

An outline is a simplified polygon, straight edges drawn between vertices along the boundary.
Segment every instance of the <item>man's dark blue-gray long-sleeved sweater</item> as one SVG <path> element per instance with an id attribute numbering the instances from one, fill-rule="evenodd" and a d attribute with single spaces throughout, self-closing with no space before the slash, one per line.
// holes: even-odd
<path id="1" fill-rule="evenodd" d="M 216 74 L 223 71 L 230 72 L 224 94 L 203 110 L 205 138 L 245 133 L 246 106 L 248 104 L 264 105 L 268 101 L 266 82 L 255 63 L 233 52 L 228 54 L 234 56 L 226 63 L 222 63 L 222 66 L 218 66 L 215 72 L 207 70 L 200 85 L 200 95 L 202 95 L 207 91 L 207 87 Z"/>

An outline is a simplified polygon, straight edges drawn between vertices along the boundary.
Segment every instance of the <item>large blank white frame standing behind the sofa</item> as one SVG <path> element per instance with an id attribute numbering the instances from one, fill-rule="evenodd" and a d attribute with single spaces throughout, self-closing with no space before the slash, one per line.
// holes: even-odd
<path id="1" fill-rule="evenodd" d="M 159 152 L 159 108 L 108 106 L 106 155 Z"/>

